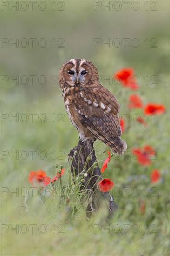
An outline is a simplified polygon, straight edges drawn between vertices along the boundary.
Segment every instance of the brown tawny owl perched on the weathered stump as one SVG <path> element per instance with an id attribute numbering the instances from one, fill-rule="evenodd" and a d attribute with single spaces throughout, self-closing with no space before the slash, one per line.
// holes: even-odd
<path id="1" fill-rule="evenodd" d="M 65 108 L 82 141 L 99 139 L 113 153 L 122 154 L 127 145 L 121 140 L 117 99 L 99 82 L 91 61 L 71 59 L 59 71 L 59 85 Z"/>

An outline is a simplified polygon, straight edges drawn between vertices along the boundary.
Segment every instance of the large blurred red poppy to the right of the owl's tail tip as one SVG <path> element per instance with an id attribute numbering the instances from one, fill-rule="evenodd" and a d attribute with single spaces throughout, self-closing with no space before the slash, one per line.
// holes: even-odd
<path id="1" fill-rule="evenodd" d="M 143 148 L 134 148 L 132 153 L 137 156 L 138 163 L 144 166 L 150 165 L 152 163 L 150 158 L 155 155 L 155 151 L 150 145 L 146 145 Z"/>

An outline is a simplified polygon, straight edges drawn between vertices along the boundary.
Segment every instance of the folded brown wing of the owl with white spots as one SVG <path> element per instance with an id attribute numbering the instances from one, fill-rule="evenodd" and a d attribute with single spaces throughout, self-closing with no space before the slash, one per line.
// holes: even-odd
<path id="1" fill-rule="evenodd" d="M 100 140 L 117 138 L 121 135 L 118 112 L 120 106 L 116 98 L 102 85 L 81 88 L 76 95 L 76 108 L 80 122 L 92 135 Z"/>

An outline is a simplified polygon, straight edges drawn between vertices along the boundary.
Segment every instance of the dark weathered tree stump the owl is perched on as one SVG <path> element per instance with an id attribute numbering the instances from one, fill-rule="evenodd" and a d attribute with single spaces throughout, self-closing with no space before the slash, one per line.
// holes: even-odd
<path id="1" fill-rule="evenodd" d="M 77 154 L 75 155 L 75 151 Z M 71 160 L 72 159 L 72 160 Z M 113 196 L 109 192 L 100 192 L 97 188 L 101 177 L 101 171 L 96 162 L 95 151 L 91 140 L 82 142 L 79 140 L 78 145 L 70 151 L 68 154 L 68 160 L 71 162 L 71 172 L 73 178 L 76 177 L 83 170 L 88 171 L 88 176 L 85 177 L 85 182 L 82 183 L 82 189 L 87 191 L 91 190 L 92 201 L 88 203 L 86 210 L 87 217 L 91 217 L 93 212 L 96 212 L 101 204 L 102 199 L 105 198 L 108 202 L 109 217 L 114 215 L 114 212 L 118 209 L 118 205 L 114 202 Z"/>

